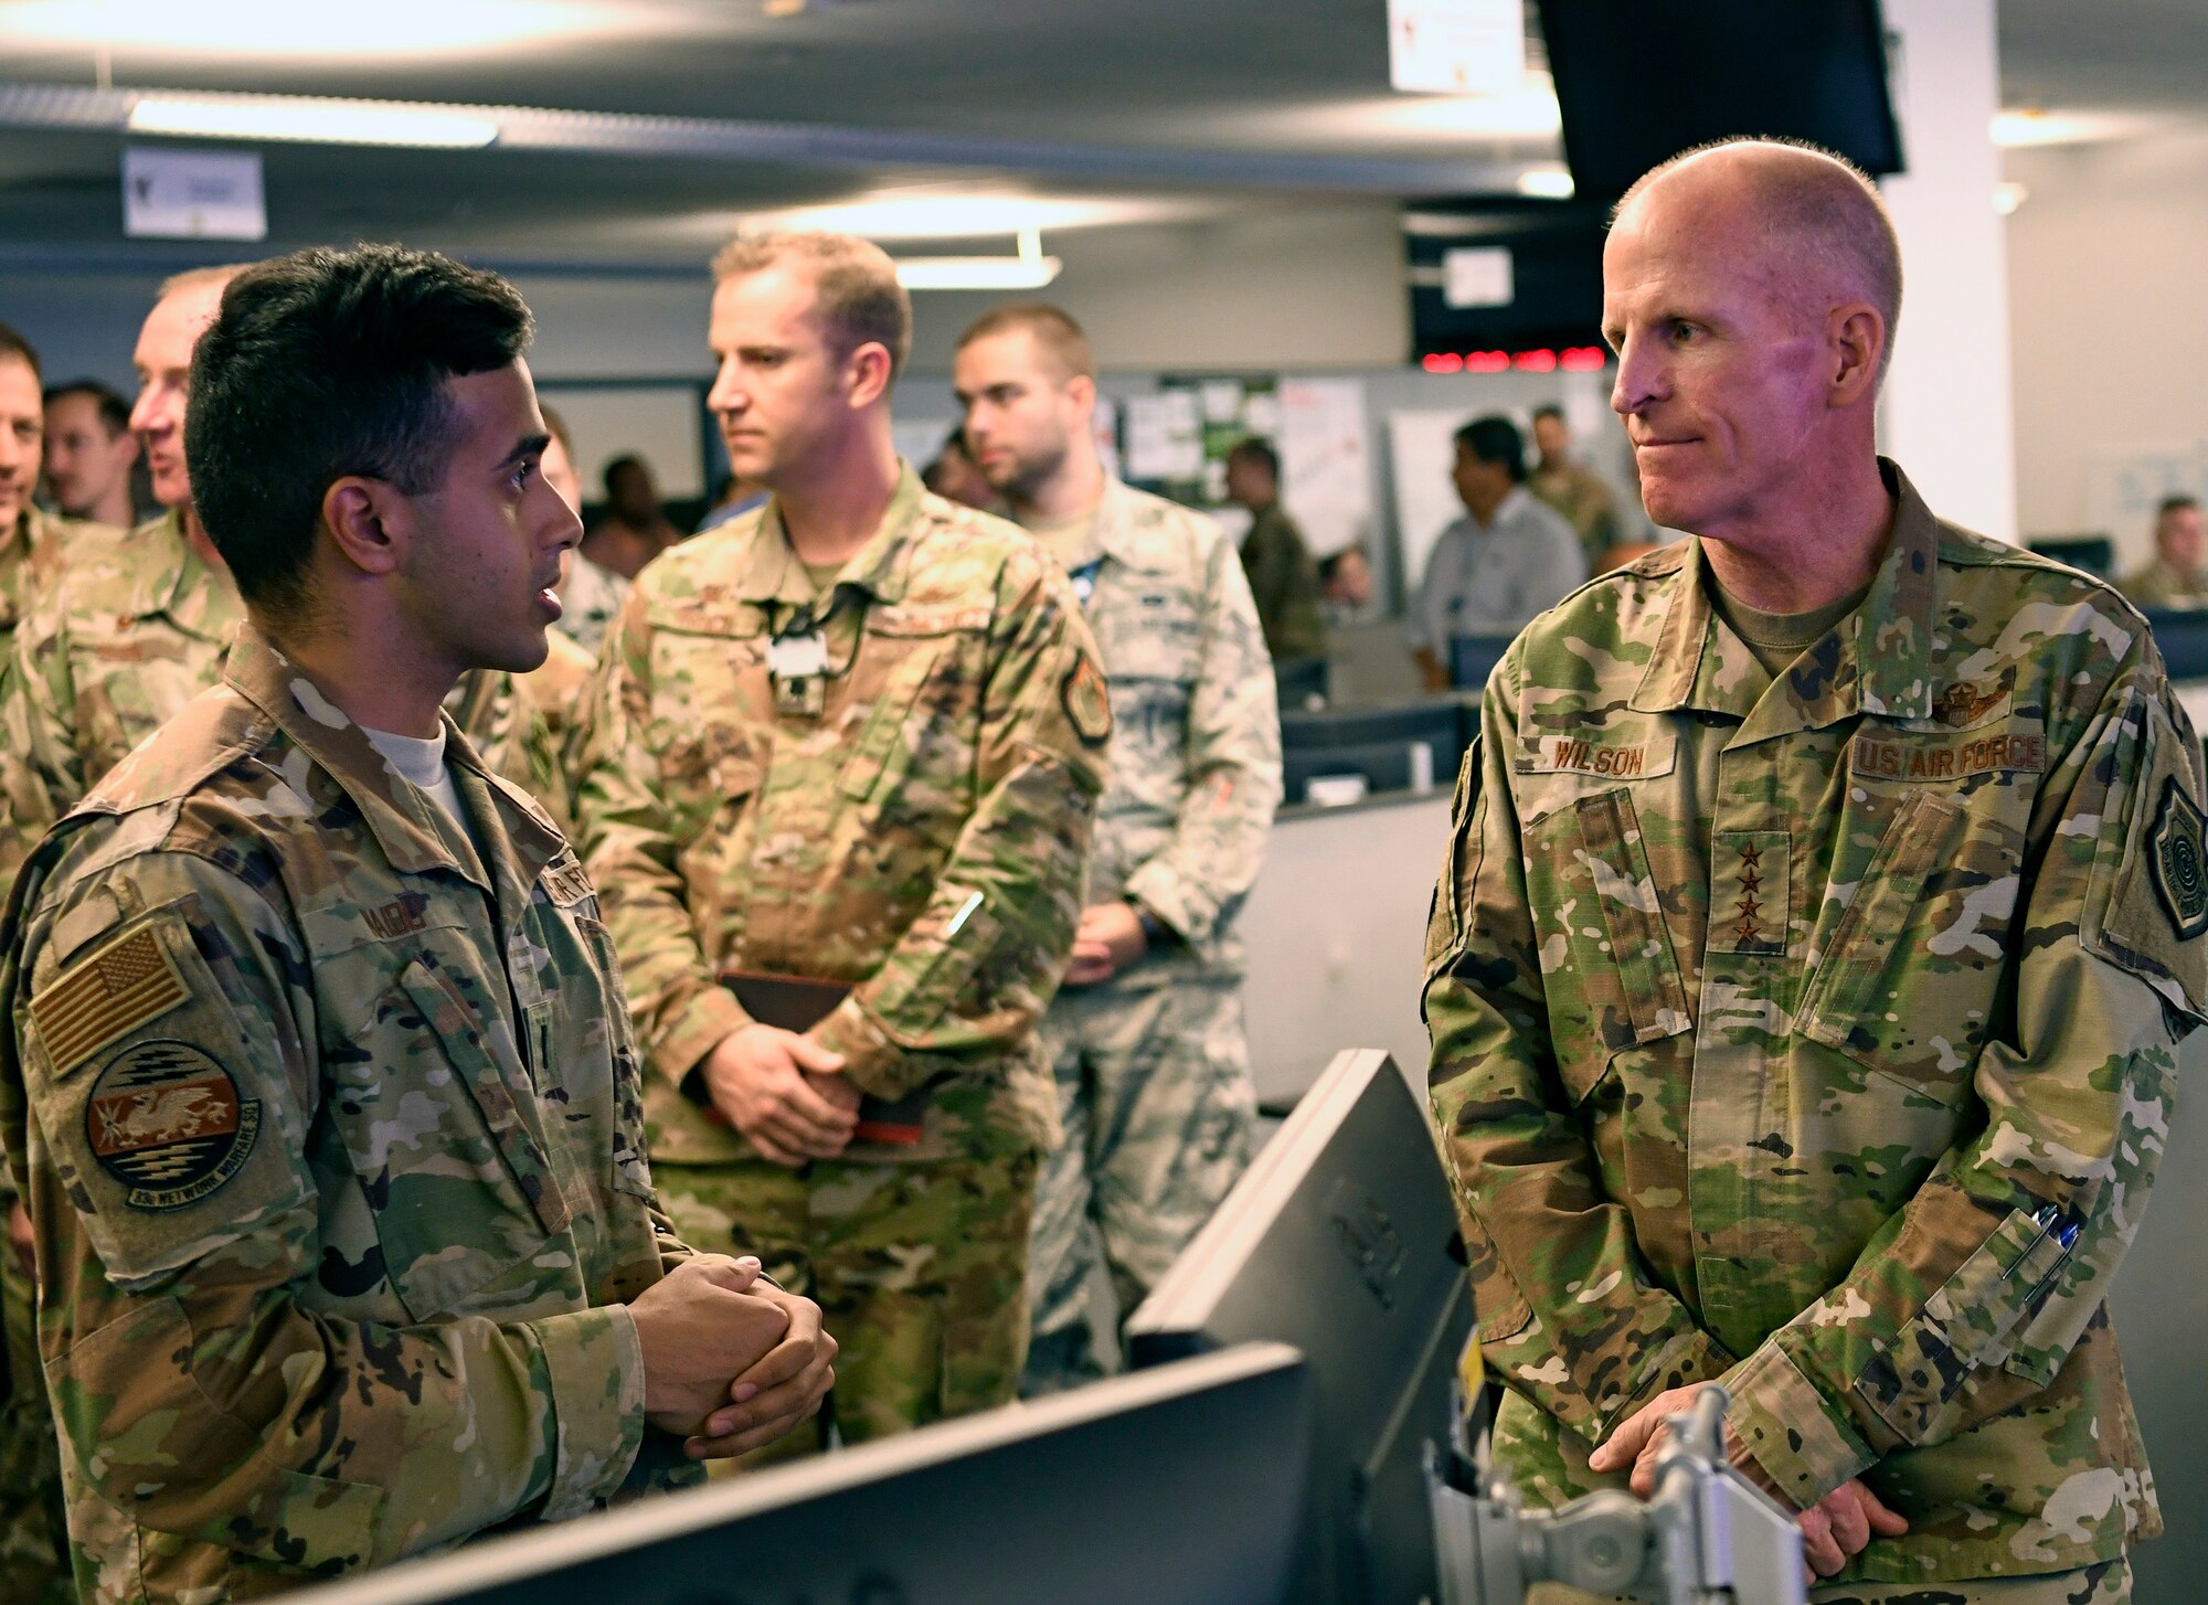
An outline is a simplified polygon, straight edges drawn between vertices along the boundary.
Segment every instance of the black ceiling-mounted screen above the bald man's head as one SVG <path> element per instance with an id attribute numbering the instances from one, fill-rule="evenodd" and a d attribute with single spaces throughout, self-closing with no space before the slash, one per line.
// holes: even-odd
<path id="1" fill-rule="evenodd" d="M 1614 201 L 1680 150 L 1811 139 L 1901 172 L 1877 0 L 1537 0 L 1581 201 Z"/>

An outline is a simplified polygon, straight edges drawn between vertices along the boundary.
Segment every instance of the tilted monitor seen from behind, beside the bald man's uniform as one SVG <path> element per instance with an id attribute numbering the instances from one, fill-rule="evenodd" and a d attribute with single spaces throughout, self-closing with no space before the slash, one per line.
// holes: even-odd
<path id="1" fill-rule="evenodd" d="M 1473 1331 L 1424 1099 L 1338 1053 L 1128 1320 L 1137 1367 L 1274 1340 L 1312 1367 L 1318 1437 L 1292 1601 L 1440 1598 L 1424 1448 L 1446 1442 Z"/>

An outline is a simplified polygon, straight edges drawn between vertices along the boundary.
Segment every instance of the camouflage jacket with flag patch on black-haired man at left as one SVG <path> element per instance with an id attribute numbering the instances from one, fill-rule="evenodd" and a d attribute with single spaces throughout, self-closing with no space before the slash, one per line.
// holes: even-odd
<path id="1" fill-rule="evenodd" d="M 673 1475 L 623 1305 L 689 1250 L 612 945 L 448 742 L 470 832 L 247 629 L 9 905 L 0 1128 L 86 1598 L 221 1605 Z"/>

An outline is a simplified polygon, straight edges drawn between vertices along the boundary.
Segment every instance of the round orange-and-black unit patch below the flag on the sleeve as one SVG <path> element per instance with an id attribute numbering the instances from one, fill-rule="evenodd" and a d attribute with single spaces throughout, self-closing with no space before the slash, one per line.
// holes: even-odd
<path id="1" fill-rule="evenodd" d="M 261 1102 L 190 1042 L 132 1042 L 84 1102 L 84 1139 L 132 1210 L 181 1210 L 254 1152 Z"/>

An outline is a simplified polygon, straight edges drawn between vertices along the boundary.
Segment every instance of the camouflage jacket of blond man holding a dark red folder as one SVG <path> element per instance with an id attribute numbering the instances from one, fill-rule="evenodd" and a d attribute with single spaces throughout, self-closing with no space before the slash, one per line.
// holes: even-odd
<path id="1" fill-rule="evenodd" d="M 751 1155 L 680 1091 L 749 1022 L 724 967 L 857 982 L 813 1035 L 874 1097 L 932 1088 L 923 1141 L 852 1157 L 1051 1144 L 1033 1027 L 1111 740 L 1089 627 L 1042 548 L 910 470 L 830 603 L 821 709 L 784 713 L 768 640 L 821 607 L 768 501 L 654 561 L 605 642 L 578 795 L 651 1152 Z"/>

